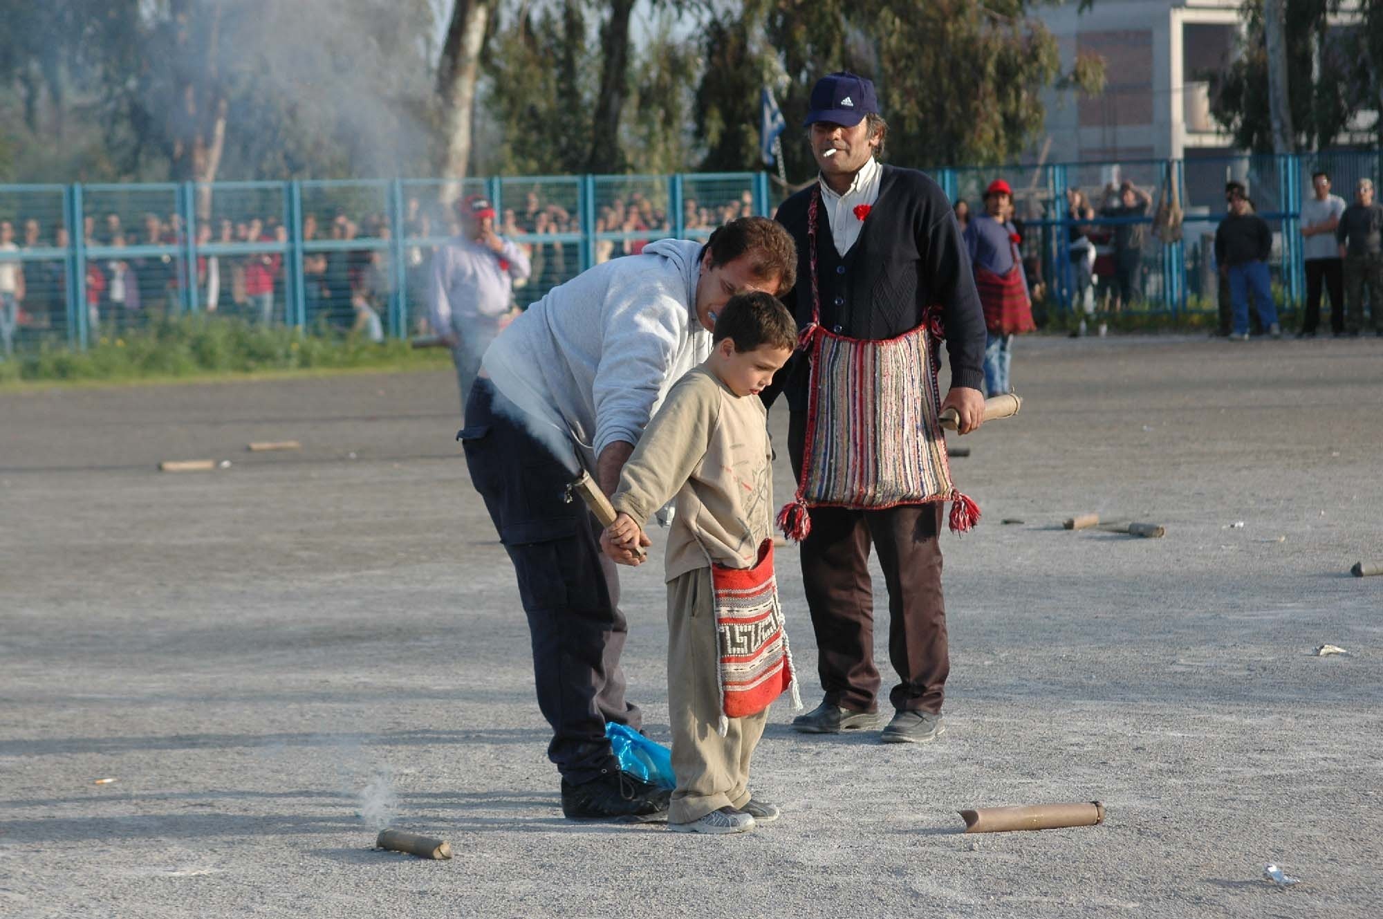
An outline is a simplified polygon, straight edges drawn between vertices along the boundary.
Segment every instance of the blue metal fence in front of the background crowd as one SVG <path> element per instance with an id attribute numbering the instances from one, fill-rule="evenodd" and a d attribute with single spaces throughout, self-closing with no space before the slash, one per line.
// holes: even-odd
<path id="1" fill-rule="evenodd" d="M 1274 281 L 1289 303 L 1300 302 L 1297 215 L 1315 169 L 1329 170 L 1347 194 L 1357 179 L 1383 177 L 1383 155 L 1044 163 L 934 176 L 972 209 L 983 206 L 992 179 L 1012 185 L 1030 281 L 1046 285 L 1050 307 L 1082 309 L 1073 226 L 1095 241 L 1095 289 L 1108 296 L 1111 239 L 1120 226 L 1140 224 L 1135 292 L 1124 309 L 1181 313 L 1214 309 L 1213 234 L 1227 180 L 1243 181 L 1274 227 Z M 1122 181 L 1148 194 L 1147 213 L 1101 213 Z M 1164 242 L 1153 212 L 1173 181 L 1184 223 L 1180 238 Z M 1093 219 L 1072 219 L 1075 190 L 1091 199 Z M 768 173 L 0 185 L 0 221 L 12 226 L 17 245 L 0 249 L 0 263 L 18 260 L 24 277 L 17 345 L 86 347 L 184 313 L 340 329 L 372 314 L 384 334 L 409 335 L 426 316 L 431 253 L 458 231 L 444 202 L 470 194 L 490 197 L 501 233 L 530 248 L 534 270 L 516 291 L 520 306 L 654 239 L 704 239 L 726 220 L 772 215 L 783 198 Z"/>

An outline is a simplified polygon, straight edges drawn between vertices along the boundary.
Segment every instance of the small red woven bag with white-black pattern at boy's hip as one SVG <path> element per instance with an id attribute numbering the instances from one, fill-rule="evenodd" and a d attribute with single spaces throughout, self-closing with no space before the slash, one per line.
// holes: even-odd
<path id="1" fill-rule="evenodd" d="M 773 540 L 759 545 L 754 567 L 711 565 L 711 585 L 719 653 L 721 736 L 730 729 L 730 718 L 763 711 L 790 686 L 792 704 L 801 709 L 773 576 Z"/>

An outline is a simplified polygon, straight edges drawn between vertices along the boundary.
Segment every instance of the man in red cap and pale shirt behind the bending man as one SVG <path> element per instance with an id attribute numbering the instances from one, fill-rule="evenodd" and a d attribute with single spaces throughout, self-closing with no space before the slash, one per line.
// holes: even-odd
<path id="1" fill-rule="evenodd" d="M 451 349 L 466 411 L 480 358 L 514 316 L 513 282 L 528 277 L 528 256 L 495 233 L 495 206 L 484 195 L 456 203 L 461 235 L 433 257 L 427 318 L 433 334 Z"/>

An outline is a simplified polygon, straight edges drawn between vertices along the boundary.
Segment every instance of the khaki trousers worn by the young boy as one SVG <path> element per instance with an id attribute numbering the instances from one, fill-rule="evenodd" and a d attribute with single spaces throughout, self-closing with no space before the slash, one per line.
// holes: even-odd
<path id="1" fill-rule="evenodd" d="M 750 758 L 763 736 L 768 709 L 730 718 L 722 738 L 719 649 L 711 569 L 698 567 L 668 581 L 668 725 L 678 788 L 669 824 L 690 824 L 722 807 L 744 807 Z"/>

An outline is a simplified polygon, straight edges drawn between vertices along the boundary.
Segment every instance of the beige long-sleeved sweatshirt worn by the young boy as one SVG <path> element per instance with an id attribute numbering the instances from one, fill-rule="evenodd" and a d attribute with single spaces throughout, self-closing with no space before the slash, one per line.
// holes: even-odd
<path id="1" fill-rule="evenodd" d="M 643 526 L 676 494 L 669 581 L 711 562 L 751 567 L 773 527 L 772 457 L 763 403 L 736 396 L 701 364 L 668 392 L 611 504 Z"/>

